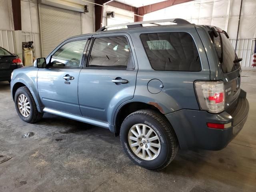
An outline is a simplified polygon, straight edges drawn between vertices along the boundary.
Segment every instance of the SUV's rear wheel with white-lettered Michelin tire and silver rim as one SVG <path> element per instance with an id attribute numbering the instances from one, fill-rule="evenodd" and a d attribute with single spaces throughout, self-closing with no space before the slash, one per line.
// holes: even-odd
<path id="1" fill-rule="evenodd" d="M 145 131 L 144 127 L 146 127 Z M 137 135 L 140 135 L 139 137 L 135 136 L 134 130 Z M 148 136 L 146 133 L 149 133 L 149 131 L 152 133 Z M 130 137 L 132 139 L 136 138 L 136 141 L 130 139 Z M 153 140 L 155 138 L 158 139 Z M 138 110 L 127 116 L 121 126 L 120 141 L 124 152 L 135 164 L 156 171 L 168 166 L 176 156 L 179 148 L 172 126 L 162 114 L 154 110 Z M 136 154 L 139 148 L 138 144 L 141 149 Z M 153 150 L 151 151 L 152 148 Z M 151 153 L 152 157 L 150 157 L 149 153 Z"/>

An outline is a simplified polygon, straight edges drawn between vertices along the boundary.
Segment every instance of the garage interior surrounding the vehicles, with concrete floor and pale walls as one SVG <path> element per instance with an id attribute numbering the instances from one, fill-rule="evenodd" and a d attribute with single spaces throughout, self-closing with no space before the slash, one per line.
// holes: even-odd
<path id="1" fill-rule="evenodd" d="M 243 58 L 241 88 L 250 103 L 244 128 L 226 148 L 179 150 L 154 172 L 131 162 L 107 129 L 48 113 L 23 122 L 9 82 L 0 82 L 0 191 L 256 191 L 255 10 L 255 0 L 0 0 L 0 47 L 24 67 L 102 26 L 167 18 L 218 26 Z"/>

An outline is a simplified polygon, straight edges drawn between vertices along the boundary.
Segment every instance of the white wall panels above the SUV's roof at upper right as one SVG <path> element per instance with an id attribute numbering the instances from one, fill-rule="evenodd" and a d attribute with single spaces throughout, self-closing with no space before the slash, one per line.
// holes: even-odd
<path id="1" fill-rule="evenodd" d="M 183 18 L 195 24 L 214 25 L 236 38 L 241 0 L 195 0 L 146 14 L 144 20 Z M 238 38 L 256 37 L 256 0 L 243 0 Z"/>

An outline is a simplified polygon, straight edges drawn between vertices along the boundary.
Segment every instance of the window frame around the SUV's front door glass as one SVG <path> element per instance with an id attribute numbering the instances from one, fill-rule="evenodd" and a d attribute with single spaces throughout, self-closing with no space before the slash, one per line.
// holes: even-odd
<path id="1" fill-rule="evenodd" d="M 81 60 L 80 60 L 80 64 L 79 66 L 77 67 L 72 67 L 72 66 L 48 66 L 52 60 L 52 56 L 60 49 L 62 48 L 62 46 L 70 43 L 70 42 L 74 42 L 74 41 L 81 41 L 81 40 L 87 40 L 86 41 L 86 44 L 84 46 L 84 51 L 83 51 L 83 54 L 82 54 L 82 57 L 81 57 Z M 58 45 L 51 53 L 50 53 L 50 57 L 48 56 L 49 58 L 49 61 L 47 62 L 46 64 L 46 68 L 52 68 L 52 69 L 82 69 L 83 67 L 83 63 L 84 63 L 84 58 L 85 58 L 85 55 L 86 55 L 86 50 L 88 48 L 88 44 L 90 42 L 90 37 L 86 37 L 86 38 L 77 38 L 77 39 L 70 39 L 70 40 L 66 40 L 64 42 L 62 42 L 60 45 Z"/>

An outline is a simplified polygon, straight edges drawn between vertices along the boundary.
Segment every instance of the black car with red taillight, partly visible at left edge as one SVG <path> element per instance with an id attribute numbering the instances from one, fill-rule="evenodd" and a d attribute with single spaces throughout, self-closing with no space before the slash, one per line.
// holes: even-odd
<path id="1" fill-rule="evenodd" d="M 0 81 L 11 81 L 11 74 L 14 69 L 23 67 L 22 60 L 0 47 Z"/>

